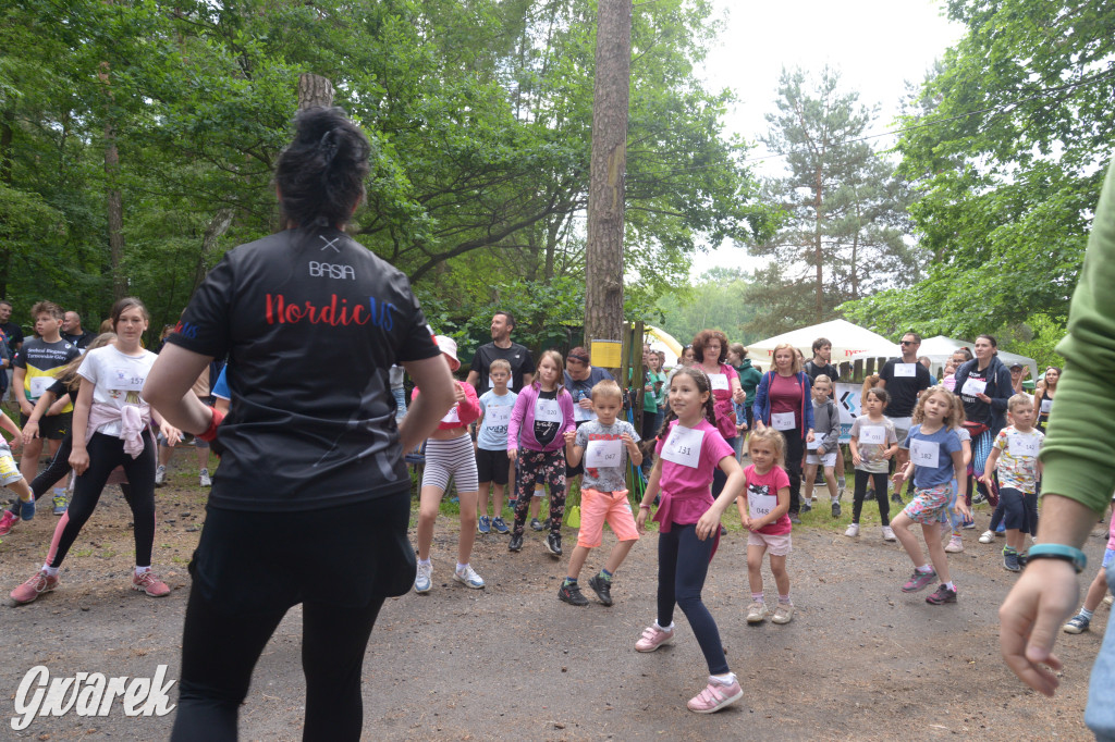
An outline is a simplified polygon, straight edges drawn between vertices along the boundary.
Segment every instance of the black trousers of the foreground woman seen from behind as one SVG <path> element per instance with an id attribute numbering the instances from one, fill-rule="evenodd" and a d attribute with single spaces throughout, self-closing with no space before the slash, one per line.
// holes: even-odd
<path id="1" fill-rule="evenodd" d="M 190 564 L 182 680 L 171 739 L 236 739 L 260 654 L 302 604 L 303 740 L 359 740 L 365 651 L 387 597 L 414 584 L 408 491 L 298 512 L 210 506 Z"/>

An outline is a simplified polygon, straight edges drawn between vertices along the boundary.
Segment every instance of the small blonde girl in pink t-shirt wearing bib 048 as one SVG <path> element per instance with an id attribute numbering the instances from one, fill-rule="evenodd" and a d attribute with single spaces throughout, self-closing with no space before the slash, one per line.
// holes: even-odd
<path id="1" fill-rule="evenodd" d="M 740 497 L 739 520 L 747 528 L 747 582 L 752 588 L 752 605 L 747 608 L 747 623 L 760 624 L 769 611 L 763 602 L 763 555 L 770 550 L 770 572 L 778 588 L 778 607 L 770 619 L 788 624 L 794 618 L 794 604 L 789 599 L 789 575 L 786 574 L 786 555 L 789 554 L 789 475 L 782 468 L 786 440 L 773 428 L 752 433 L 747 451 L 752 465 L 744 469 L 747 481 L 746 502 Z"/>

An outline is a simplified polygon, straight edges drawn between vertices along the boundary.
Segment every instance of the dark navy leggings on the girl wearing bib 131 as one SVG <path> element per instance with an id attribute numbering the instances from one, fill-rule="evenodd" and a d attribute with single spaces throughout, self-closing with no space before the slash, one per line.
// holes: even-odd
<path id="1" fill-rule="evenodd" d="M 679 526 L 675 523 L 669 533 L 659 533 L 658 625 L 669 626 L 673 622 L 673 606 L 681 606 L 705 654 L 709 675 L 721 675 L 728 672 L 728 660 L 724 656 L 716 621 L 700 599 L 715 538 L 712 535 L 704 541 L 698 539 L 697 524 Z"/>

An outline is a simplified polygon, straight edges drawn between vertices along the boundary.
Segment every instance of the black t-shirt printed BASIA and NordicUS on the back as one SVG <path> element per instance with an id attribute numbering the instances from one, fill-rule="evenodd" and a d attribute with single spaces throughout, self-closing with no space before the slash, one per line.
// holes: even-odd
<path id="1" fill-rule="evenodd" d="M 440 351 L 406 276 L 345 233 L 229 251 L 167 342 L 230 358 L 211 505 L 309 510 L 409 489 L 388 370 Z"/>

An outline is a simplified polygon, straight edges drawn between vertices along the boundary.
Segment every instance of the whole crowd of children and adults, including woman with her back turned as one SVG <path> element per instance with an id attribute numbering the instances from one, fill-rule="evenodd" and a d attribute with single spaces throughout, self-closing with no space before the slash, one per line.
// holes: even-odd
<path id="1" fill-rule="evenodd" d="M 545 551 L 563 556 L 566 496 L 575 486 L 580 525 L 558 598 L 589 603 L 580 579 L 607 524 L 617 543 L 586 585 L 612 605 L 615 575 L 653 519 L 657 611 L 634 650 L 673 642 L 680 608 L 708 665 L 706 686 L 688 703 L 698 713 L 743 697 L 701 597 L 733 504 L 747 538 L 748 623 L 793 621 L 794 527 L 815 506 L 816 477 L 832 516 L 841 516 L 847 460 L 854 490 L 845 535 L 861 537 L 873 490 L 881 537 L 899 541 L 912 563 L 896 587 L 915 593 L 935 584 L 930 604 L 958 599 L 948 554 L 963 550 L 962 531 L 975 525 L 971 506 L 981 499 L 995 510 L 980 541 L 993 543 L 1001 527 L 1006 569 L 1059 554 L 1051 548 L 1057 541 L 1032 545 L 1039 452 L 1055 418 L 1059 369 L 1048 369 L 1030 396 L 1020 370 L 998 359 L 996 339 L 980 335 L 950 359 L 938 382 L 918 355 L 920 335 L 908 332 L 901 355 L 864 382 L 846 452 L 833 401 L 840 370 L 824 338 L 809 358 L 776 346 L 762 371 L 744 345 L 704 330 L 669 372 L 665 354 L 647 346 L 642 378 L 617 380 L 594 368 L 584 348 L 564 358 L 553 349 L 533 355 L 512 341 L 515 320 L 500 311 L 492 341 L 477 349 L 467 377 L 455 379 L 462 364 L 454 340 L 429 328 L 400 272 L 343 231 L 368 173 L 363 134 L 339 109 L 303 111 L 295 127 L 275 172 L 288 228 L 229 251 L 164 333 L 157 357 L 142 343 L 149 315 L 138 299 L 117 302 L 99 335 L 85 331 L 76 313 L 39 302 L 30 338 L 11 321 L 12 305 L 0 302 L 0 357 L 20 409 L 19 426 L 7 416 L 0 426 L 12 447 L 23 447 L 16 468 L 0 445 L 0 482 L 17 496 L 0 528 L 33 518 L 36 501 L 70 470 L 75 482 L 68 502 L 62 488 L 54 490 L 60 516 L 54 539 L 42 566 L 12 590 L 17 603 L 58 587 L 62 560 L 114 481 L 135 524 L 130 587 L 166 595 L 152 569 L 154 492 L 168 463 L 158 449 L 196 442 L 200 484 L 212 489 L 191 564 L 173 739 L 235 738 L 252 668 L 297 604 L 303 605 L 306 734 L 358 739 L 368 637 L 387 597 L 433 588 L 433 534 L 450 484 L 460 504 L 453 577 L 473 589 L 485 587 L 471 565 L 477 535 L 505 535 L 516 553 L 530 518 L 533 529 L 547 531 Z M 351 269 L 352 285 L 312 270 L 326 250 Z M 211 394 L 211 364 L 225 358 Z M 409 404 L 405 377 L 414 384 Z M 636 416 L 628 419 L 634 410 L 638 427 Z M 40 473 L 43 439 L 52 459 Z M 212 478 L 210 446 L 222 456 Z M 416 558 L 407 536 L 405 452 L 419 450 Z M 630 477 L 646 477 L 637 508 Z M 541 523 L 544 489 L 549 517 Z M 892 502 L 901 507 L 893 518 Z M 1112 534 L 1108 555 L 1115 555 Z M 777 594 L 773 609 L 765 558 Z M 321 580 L 338 565 L 346 569 L 343 592 Z M 245 573 L 251 584 L 239 578 Z M 1097 576 L 1066 632 L 1087 629 L 1104 589 Z"/>

